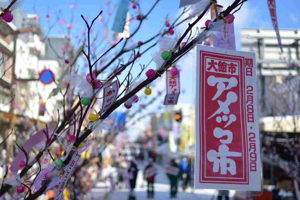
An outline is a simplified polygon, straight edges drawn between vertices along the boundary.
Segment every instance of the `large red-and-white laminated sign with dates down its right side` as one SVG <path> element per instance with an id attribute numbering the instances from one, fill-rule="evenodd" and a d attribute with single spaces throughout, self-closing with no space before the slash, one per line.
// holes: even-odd
<path id="1" fill-rule="evenodd" d="M 260 191 L 256 54 L 196 47 L 195 189 Z"/>

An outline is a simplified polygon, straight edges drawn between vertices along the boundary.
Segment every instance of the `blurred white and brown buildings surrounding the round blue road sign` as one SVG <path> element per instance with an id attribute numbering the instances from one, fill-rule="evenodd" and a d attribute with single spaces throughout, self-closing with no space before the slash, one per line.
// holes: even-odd
<path id="1" fill-rule="evenodd" d="M 0 2 L 0 7 L 5 7 L 3 4 Z M 0 20 L 0 77 L 4 74 L 0 79 L 1 125 L 7 127 L 12 116 L 17 116 L 16 124 L 22 123 L 22 117 L 34 124 L 50 121 L 53 115 L 57 115 L 56 110 L 61 105 L 57 102 L 62 97 L 57 95 L 46 101 L 56 85 L 54 82 L 41 83 L 39 73 L 50 69 L 55 77 L 59 77 L 64 58 L 59 59 L 57 55 L 69 55 L 69 52 L 63 53 L 61 46 L 70 46 L 70 39 L 66 35 L 45 36 L 37 15 L 26 15 L 19 8 L 12 14 L 12 22 Z M 9 103 L 13 94 L 14 102 Z M 46 102 L 44 115 L 39 114 L 41 102 Z"/>

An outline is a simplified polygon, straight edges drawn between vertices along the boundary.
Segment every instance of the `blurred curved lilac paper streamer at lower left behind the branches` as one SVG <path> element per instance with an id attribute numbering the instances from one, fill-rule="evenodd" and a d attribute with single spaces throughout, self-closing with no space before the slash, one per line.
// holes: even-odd
<path id="1" fill-rule="evenodd" d="M 54 131 L 55 126 L 56 126 L 56 122 L 52 122 L 52 123 L 47 124 L 49 137 L 51 136 L 52 132 Z M 25 151 L 27 153 L 31 150 L 31 148 L 33 146 L 37 145 L 41 141 L 46 141 L 47 140 L 47 137 L 46 137 L 44 131 L 47 132 L 47 129 L 44 128 L 44 129 L 38 131 L 37 133 L 35 133 L 35 135 L 31 136 L 22 145 L 22 147 L 25 149 Z M 16 175 L 18 170 L 21 169 L 21 167 L 19 167 L 19 161 L 21 161 L 21 160 L 26 161 L 26 156 L 25 156 L 23 151 L 19 150 L 17 156 L 15 157 L 15 159 L 13 160 L 13 162 L 11 163 L 11 166 L 10 166 L 10 172 L 13 173 L 14 175 Z"/>

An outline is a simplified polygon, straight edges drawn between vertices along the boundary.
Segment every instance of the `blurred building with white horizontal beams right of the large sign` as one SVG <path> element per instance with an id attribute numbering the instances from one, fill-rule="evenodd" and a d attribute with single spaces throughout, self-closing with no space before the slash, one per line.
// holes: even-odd
<path id="1" fill-rule="evenodd" d="M 280 105 L 277 105 L 275 110 L 270 107 L 269 102 L 276 100 L 270 88 L 281 84 L 287 76 L 300 75 L 300 30 L 280 29 L 279 32 L 283 53 L 281 53 L 278 46 L 274 29 L 241 29 L 241 35 L 250 36 L 241 37 L 241 49 L 243 51 L 257 52 L 259 113 L 261 116 L 281 115 L 282 109 L 286 112 L 285 108 L 280 109 Z M 289 114 L 285 113 L 285 115 Z"/>

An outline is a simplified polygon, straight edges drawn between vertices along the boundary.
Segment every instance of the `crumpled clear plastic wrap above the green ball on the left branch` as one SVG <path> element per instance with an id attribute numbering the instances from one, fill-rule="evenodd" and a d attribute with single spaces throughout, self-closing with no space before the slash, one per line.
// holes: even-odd
<path id="1" fill-rule="evenodd" d="M 74 86 L 74 93 L 87 98 L 93 96 L 93 88 L 91 84 L 86 81 L 84 74 L 70 73 L 65 77 L 65 80 Z"/>

